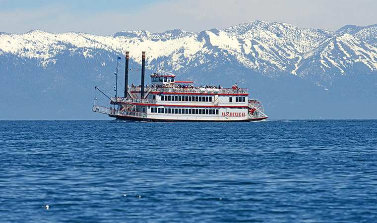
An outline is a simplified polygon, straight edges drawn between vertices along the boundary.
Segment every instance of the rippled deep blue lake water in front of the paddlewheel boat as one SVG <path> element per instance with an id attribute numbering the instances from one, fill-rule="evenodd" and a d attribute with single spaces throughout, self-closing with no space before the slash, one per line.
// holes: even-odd
<path id="1" fill-rule="evenodd" d="M 377 120 L 0 121 L 0 152 L 4 223 L 377 222 Z"/>

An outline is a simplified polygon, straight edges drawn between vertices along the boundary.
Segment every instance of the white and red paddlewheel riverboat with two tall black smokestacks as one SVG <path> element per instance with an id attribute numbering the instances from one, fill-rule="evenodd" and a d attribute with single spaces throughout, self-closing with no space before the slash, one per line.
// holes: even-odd
<path id="1" fill-rule="evenodd" d="M 151 75 L 152 86 L 144 87 L 145 52 L 142 52 L 141 85 L 128 86 L 128 56 L 126 52 L 125 95 L 106 96 L 110 108 L 98 106 L 92 111 L 108 114 L 121 120 L 149 122 L 242 122 L 266 119 L 262 103 L 249 99 L 249 90 L 237 85 L 231 89 L 221 86 L 194 87 L 190 81 L 175 81 L 175 75 L 162 69 Z M 120 57 L 118 57 L 120 59 Z M 118 78 L 118 66 L 117 66 Z M 118 81 L 118 80 L 117 80 Z"/>

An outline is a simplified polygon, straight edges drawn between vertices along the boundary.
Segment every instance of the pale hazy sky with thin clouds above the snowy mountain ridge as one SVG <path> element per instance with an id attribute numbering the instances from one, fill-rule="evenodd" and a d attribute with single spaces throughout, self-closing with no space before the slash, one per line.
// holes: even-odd
<path id="1" fill-rule="evenodd" d="M 336 31 L 377 23 L 377 0 L 0 0 L 0 32 L 200 32 L 253 20 Z"/>

